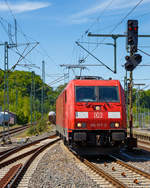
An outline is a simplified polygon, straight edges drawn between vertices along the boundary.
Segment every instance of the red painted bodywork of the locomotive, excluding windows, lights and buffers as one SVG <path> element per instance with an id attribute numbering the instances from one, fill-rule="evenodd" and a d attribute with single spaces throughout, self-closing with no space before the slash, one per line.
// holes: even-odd
<path id="1" fill-rule="evenodd" d="M 75 102 L 75 86 L 118 86 L 120 102 Z M 65 96 L 67 98 L 65 102 Z M 101 110 L 94 110 L 94 106 L 101 105 Z M 75 112 L 88 112 L 87 119 L 76 119 Z M 94 113 L 98 113 L 94 115 Z M 120 119 L 108 119 L 108 112 L 120 112 Z M 98 117 L 98 118 L 96 118 Z M 99 118 L 100 117 L 100 118 Z M 119 122 L 119 128 L 126 130 L 126 106 L 124 90 L 118 80 L 72 80 L 56 101 L 56 125 L 67 128 L 68 132 L 76 128 L 77 122 L 86 122 L 84 129 L 110 130 L 111 122 Z M 79 128 L 78 128 L 79 129 Z M 81 128 L 83 129 L 83 128 Z"/>

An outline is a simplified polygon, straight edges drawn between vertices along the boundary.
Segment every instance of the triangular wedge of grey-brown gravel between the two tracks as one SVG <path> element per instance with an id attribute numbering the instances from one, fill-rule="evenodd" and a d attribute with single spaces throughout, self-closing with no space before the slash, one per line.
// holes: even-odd
<path id="1" fill-rule="evenodd" d="M 29 182 L 29 188 L 96 188 L 86 172 L 76 165 L 76 159 L 60 144 L 53 146 L 42 158 Z"/>

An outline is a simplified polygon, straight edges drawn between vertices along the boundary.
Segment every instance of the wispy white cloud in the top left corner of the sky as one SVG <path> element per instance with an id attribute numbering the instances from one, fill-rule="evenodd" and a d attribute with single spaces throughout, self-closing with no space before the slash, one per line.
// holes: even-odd
<path id="1" fill-rule="evenodd" d="M 37 2 L 25 1 L 21 3 L 15 3 L 15 4 L 9 3 L 9 7 L 15 13 L 37 10 L 37 9 L 45 8 L 48 6 L 51 6 L 51 3 L 38 2 L 38 1 Z M 0 2 L 0 11 L 8 11 L 8 6 L 6 3 Z"/>

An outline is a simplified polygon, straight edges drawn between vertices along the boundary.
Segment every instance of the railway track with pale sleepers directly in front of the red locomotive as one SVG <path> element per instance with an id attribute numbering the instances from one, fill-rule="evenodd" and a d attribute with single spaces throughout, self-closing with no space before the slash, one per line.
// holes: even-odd
<path id="1" fill-rule="evenodd" d="M 73 152 L 71 150 L 71 152 Z M 109 156 L 107 159 L 89 161 L 73 154 L 80 160 L 78 167 L 85 171 L 100 187 L 149 187 L 150 174 L 135 168 L 132 165 L 116 158 Z M 90 171 L 89 171 L 90 169 Z"/>

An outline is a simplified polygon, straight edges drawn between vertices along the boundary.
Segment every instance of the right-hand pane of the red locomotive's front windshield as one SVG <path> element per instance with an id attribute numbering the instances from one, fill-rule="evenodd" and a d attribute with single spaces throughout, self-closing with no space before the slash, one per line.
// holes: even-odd
<path id="1" fill-rule="evenodd" d="M 119 102 L 118 87 L 115 86 L 100 86 L 99 101 Z"/>

